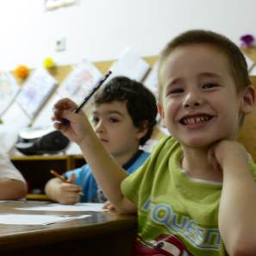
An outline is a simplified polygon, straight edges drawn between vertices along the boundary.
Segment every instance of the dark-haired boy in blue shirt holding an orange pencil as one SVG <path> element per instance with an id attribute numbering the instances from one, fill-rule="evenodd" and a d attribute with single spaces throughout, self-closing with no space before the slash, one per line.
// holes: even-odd
<path id="1" fill-rule="evenodd" d="M 97 92 L 92 106 L 92 126 L 98 139 L 118 165 L 128 174 L 133 173 L 149 156 L 149 153 L 139 150 L 139 146 L 146 144 L 156 123 L 157 107 L 153 93 L 139 82 L 116 77 Z M 63 204 L 107 201 L 89 165 L 63 176 L 71 184 L 53 178 L 46 185 L 47 196 L 54 201 Z M 78 190 L 82 190 L 84 196 L 80 197 Z"/>

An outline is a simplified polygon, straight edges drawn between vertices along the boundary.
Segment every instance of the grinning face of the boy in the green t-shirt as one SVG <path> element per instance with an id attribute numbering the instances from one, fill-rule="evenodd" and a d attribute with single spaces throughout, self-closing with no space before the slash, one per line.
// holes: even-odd
<path id="1" fill-rule="evenodd" d="M 242 97 L 221 51 L 206 44 L 178 47 L 161 75 L 162 126 L 182 145 L 202 147 L 235 139 Z"/>

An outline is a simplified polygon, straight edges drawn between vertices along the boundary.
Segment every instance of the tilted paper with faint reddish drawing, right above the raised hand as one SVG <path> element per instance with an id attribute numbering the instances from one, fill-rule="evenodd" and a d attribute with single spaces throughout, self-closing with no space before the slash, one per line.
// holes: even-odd
<path id="1" fill-rule="evenodd" d="M 57 93 L 59 97 L 71 98 L 73 102 L 79 104 L 102 78 L 102 72 L 89 60 L 84 59 L 59 85 Z"/>

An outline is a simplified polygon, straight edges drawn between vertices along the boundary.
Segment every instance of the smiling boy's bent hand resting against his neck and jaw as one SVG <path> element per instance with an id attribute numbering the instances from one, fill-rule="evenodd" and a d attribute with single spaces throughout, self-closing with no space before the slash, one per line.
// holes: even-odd
<path id="1" fill-rule="evenodd" d="M 209 163 L 214 166 L 216 172 L 222 172 L 223 165 L 229 159 L 231 162 L 237 159 L 244 160 L 248 164 L 248 154 L 245 147 L 235 140 L 221 140 L 209 148 Z"/>

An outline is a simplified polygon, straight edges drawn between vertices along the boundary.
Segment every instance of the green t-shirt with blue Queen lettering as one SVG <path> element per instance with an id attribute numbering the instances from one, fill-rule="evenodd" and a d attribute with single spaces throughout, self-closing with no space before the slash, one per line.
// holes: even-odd
<path id="1" fill-rule="evenodd" d="M 139 235 L 148 242 L 174 234 L 193 255 L 225 255 L 218 228 L 222 184 L 188 177 L 180 168 L 182 154 L 178 141 L 167 136 L 122 182 L 123 195 L 138 208 Z M 249 165 L 255 180 L 253 160 Z"/>

